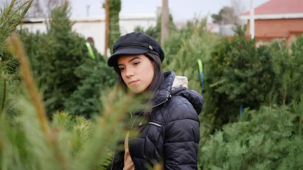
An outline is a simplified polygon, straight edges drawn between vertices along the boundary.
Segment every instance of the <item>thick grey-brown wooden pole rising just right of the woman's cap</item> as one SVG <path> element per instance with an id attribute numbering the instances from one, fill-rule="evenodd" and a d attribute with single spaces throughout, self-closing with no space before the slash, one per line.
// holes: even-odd
<path id="1" fill-rule="evenodd" d="M 168 37 L 168 0 L 162 0 L 162 21 L 161 21 L 161 46 L 164 45 L 165 38 Z"/>

